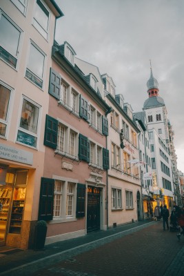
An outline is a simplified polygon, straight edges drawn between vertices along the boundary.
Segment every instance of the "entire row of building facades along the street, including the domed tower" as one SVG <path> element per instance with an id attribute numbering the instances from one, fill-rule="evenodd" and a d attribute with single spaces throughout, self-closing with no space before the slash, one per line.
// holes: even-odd
<path id="1" fill-rule="evenodd" d="M 3 0 L 0 17 L 0 246 L 33 248 L 182 203 L 174 132 L 159 84 L 141 112 L 112 77 L 54 41 L 54 0 Z M 61 19 L 62 20 L 62 19 Z"/>

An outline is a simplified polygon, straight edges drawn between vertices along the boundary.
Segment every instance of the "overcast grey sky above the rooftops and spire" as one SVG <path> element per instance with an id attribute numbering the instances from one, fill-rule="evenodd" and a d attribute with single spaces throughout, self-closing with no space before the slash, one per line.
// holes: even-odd
<path id="1" fill-rule="evenodd" d="M 147 99 L 150 59 L 159 96 L 174 130 L 178 170 L 184 172 L 184 1 L 56 0 L 65 14 L 56 40 L 108 73 L 134 112 Z"/>

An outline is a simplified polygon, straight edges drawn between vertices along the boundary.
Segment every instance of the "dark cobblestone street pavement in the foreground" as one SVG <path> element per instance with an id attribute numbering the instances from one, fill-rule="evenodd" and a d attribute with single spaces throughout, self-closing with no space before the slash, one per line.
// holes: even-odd
<path id="1" fill-rule="evenodd" d="M 1 262 L 1 259 L 0 259 Z M 0 275 L 181 276 L 184 237 L 163 231 L 162 221 L 57 252 Z"/>

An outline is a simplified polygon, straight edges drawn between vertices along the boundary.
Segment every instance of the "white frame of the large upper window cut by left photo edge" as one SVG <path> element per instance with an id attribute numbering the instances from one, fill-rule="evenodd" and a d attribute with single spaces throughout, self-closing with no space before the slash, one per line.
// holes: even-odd
<path id="1" fill-rule="evenodd" d="M 18 44 L 17 44 L 17 54 L 14 55 L 13 52 L 11 52 L 10 49 L 7 49 L 6 48 L 6 45 L 1 42 L 1 47 L 3 48 L 3 50 L 5 50 L 6 52 L 8 52 L 8 54 L 10 56 L 12 56 L 14 59 L 16 59 L 16 65 L 14 66 L 13 64 L 10 63 L 10 61 L 6 60 L 6 59 L 3 59 L 1 56 L 0 56 L 0 59 L 3 60 L 4 62 L 6 62 L 9 66 L 11 66 L 12 68 L 16 69 L 17 68 L 17 63 L 18 63 L 18 59 L 19 59 L 19 52 L 20 52 L 20 46 L 21 46 L 21 37 L 22 37 L 22 30 L 19 28 L 19 26 L 17 26 L 17 24 L 15 24 L 11 19 L 10 17 L 8 17 L 1 9 L 0 9 L 0 21 L 1 21 L 1 17 L 4 17 L 7 21 L 9 21 L 9 23 L 15 28 L 18 30 L 18 32 L 20 33 L 19 35 L 19 41 L 18 41 Z M 12 41 L 13 42 L 13 41 Z"/>

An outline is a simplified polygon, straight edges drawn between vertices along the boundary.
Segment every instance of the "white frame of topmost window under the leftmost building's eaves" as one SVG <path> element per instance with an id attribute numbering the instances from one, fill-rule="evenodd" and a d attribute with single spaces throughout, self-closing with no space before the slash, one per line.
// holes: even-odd
<path id="1" fill-rule="evenodd" d="M 36 14 L 36 9 L 39 6 L 37 1 L 40 2 L 41 6 L 43 5 L 43 8 L 45 9 L 45 11 L 48 12 L 48 15 L 46 14 L 48 16 L 48 27 L 47 27 L 46 30 L 45 30 L 45 28 L 43 28 L 43 26 L 41 26 L 39 21 L 37 21 L 37 18 L 36 18 L 36 15 L 35 15 Z M 39 6 L 39 8 L 41 8 L 41 6 Z M 41 8 L 41 10 L 43 11 L 42 8 Z M 35 29 L 37 29 L 37 31 L 41 34 L 41 36 L 44 37 L 44 39 L 46 39 L 48 41 L 49 28 L 50 28 L 50 12 L 49 12 L 48 8 L 45 7 L 45 5 L 43 4 L 43 1 L 41 1 L 41 0 L 36 0 L 36 2 L 35 2 L 34 17 L 33 17 L 32 25 L 34 26 Z"/>

